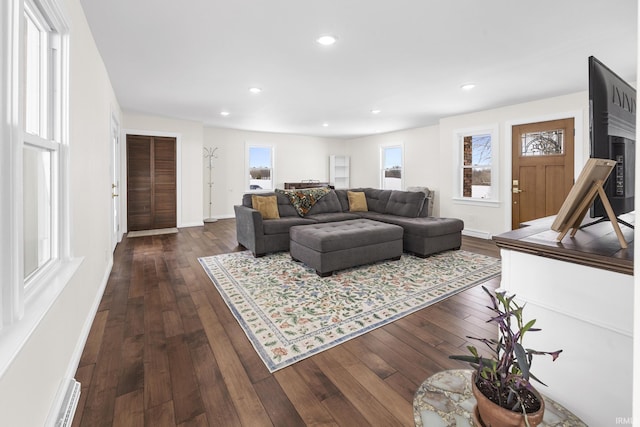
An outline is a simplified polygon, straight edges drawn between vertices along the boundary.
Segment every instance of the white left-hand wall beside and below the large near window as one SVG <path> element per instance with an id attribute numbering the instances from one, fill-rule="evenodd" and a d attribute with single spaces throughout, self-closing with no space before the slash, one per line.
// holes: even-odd
<path id="1" fill-rule="evenodd" d="M 73 377 L 111 269 L 110 120 L 120 115 L 79 0 L 70 33 L 71 247 L 80 268 L 0 378 L 0 425 L 42 426 Z M 1 351 L 1 349 L 0 349 Z"/>

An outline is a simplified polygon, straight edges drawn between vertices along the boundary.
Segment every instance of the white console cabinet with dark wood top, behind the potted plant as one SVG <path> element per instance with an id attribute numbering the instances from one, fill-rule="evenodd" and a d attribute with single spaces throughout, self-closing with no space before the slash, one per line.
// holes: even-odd
<path id="1" fill-rule="evenodd" d="M 525 320 L 540 332 L 525 345 L 562 349 L 554 362 L 535 358 L 541 393 L 590 426 L 631 420 L 633 372 L 633 230 L 621 249 L 609 223 L 557 241 L 550 219 L 532 221 L 494 240 L 501 248 L 501 287 L 526 303 Z M 635 221 L 629 221 L 635 222 Z"/>

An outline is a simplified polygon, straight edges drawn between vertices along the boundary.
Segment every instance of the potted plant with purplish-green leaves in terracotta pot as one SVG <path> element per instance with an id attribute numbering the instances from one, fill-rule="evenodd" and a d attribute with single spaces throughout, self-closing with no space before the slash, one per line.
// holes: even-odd
<path id="1" fill-rule="evenodd" d="M 542 422 L 544 401 L 531 385 L 530 380 L 544 384 L 531 373 L 534 355 L 550 355 L 556 360 L 562 350 L 542 352 L 525 348 L 522 344 L 526 332 L 533 328 L 535 319 L 525 323 L 522 317 L 524 305 L 519 305 L 515 295 L 503 292 L 489 295 L 493 315 L 487 323 L 498 325 L 498 339 L 467 337 L 483 343 L 491 356 L 482 356 L 475 346 L 468 346 L 471 355 L 449 356 L 451 359 L 469 362 L 475 368 L 472 390 L 478 401 L 477 413 L 486 426 L 535 426 Z M 475 411 L 475 410 L 474 410 Z M 497 413 L 497 415 L 496 415 Z"/>

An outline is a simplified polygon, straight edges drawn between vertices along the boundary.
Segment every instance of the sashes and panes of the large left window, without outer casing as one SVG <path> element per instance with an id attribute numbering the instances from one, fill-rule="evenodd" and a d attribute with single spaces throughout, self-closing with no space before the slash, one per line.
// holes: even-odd
<path id="1" fill-rule="evenodd" d="M 23 277 L 25 289 L 60 255 L 61 35 L 43 8 L 24 2 Z"/>

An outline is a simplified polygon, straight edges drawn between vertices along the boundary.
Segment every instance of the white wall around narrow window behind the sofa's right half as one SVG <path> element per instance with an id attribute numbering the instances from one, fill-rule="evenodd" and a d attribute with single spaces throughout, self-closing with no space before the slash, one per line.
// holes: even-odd
<path id="1" fill-rule="evenodd" d="M 426 186 L 436 190 L 434 213 L 438 213 L 440 193 L 440 142 L 438 126 L 428 126 L 367 136 L 347 141 L 351 157 L 351 187 L 380 187 L 380 145 L 404 147 L 404 188 Z"/>

